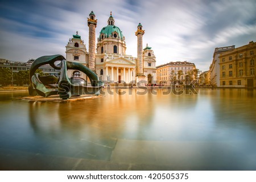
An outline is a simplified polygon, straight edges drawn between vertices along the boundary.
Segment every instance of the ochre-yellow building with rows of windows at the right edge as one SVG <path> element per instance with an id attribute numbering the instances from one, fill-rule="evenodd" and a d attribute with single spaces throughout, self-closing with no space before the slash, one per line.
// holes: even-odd
<path id="1" fill-rule="evenodd" d="M 256 87 L 256 43 L 221 53 L 219 59 L 221 87 Z"/>

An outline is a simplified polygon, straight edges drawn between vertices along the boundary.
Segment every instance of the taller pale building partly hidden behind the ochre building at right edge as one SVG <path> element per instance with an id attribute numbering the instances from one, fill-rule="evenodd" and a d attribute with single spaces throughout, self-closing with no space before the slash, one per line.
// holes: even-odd
<path id="1" fill-rule="evenodd" d="M 210 83 L 214 87 L 220 87 L 220 54 L 227 52 L 229 50 L 233 50 L 235 48 L 234 45 L 232 46 L 225 46 L 222 48 L 215 48 L 213 53 L 213 60 L 212 64 L 210 65 Z"/>

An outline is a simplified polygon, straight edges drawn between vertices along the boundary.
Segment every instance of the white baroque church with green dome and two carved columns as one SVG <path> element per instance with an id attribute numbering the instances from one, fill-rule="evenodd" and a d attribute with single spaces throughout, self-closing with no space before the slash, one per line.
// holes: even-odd
<path id="1" fill-rule="evenodd" d="M 125 36 L 121 29 L 115 26 L 115 20 L 110 12 L 108 25 L 103 27 L 97 38 L 97 19 L 94 12 L 88 18 L 89 49 L 86 50 L 81 36 L 73 35 L 66 45 L 67 61 L 79 62 L 94 71 L 104 83 L 135 83 L 154 84 L 156 80 L 156 57 L 150 46 L 143 49 L 144 30 L 139 23 L 137 36 L 137 58 L 126 54 Z M 71 77 L 86 79 L 84 73 L 69 70 Z"/>

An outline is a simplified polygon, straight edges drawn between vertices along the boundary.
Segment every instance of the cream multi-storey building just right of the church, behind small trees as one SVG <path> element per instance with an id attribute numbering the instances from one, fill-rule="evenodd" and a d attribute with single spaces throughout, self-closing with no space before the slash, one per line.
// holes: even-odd
<path id="1" fill-rule="evenodd" d="M 168 62 L 167 64 L 156 66 L 156 77 L 159 84 L 171 86 L 176 83 L 189 84 L 197 78 L 195 64 L 187 61 Z"/>

